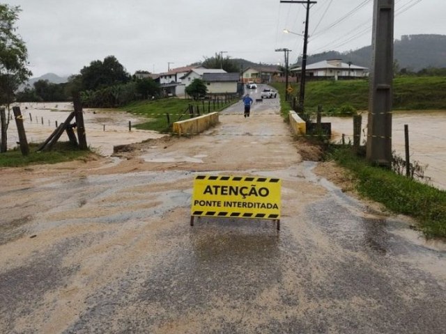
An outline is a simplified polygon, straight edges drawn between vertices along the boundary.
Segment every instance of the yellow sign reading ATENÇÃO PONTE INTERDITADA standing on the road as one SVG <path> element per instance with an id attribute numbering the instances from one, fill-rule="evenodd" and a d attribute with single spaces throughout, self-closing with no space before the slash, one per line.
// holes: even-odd
<path id="1" fill-rule="evenodd" d="M 197 175 L 191 216 L 279 220 L 282 180 Z"/>

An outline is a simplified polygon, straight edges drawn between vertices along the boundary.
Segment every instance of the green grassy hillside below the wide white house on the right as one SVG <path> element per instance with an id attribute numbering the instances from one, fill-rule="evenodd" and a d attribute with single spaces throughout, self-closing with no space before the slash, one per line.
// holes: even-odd
<path id="1" fill-rule="evenodd" d="M 299 92 L 297 84 L 294 92 Z M 446 110 L 446 77 L 397 77 L 394 79 L 393 95 L 394 110 Z M 313 108 L 322 105 L 325 111 L 329 111 L 346 104 L 357 110 L 368 108 L 368 80 L 307 81 L 305 106 Z"/>

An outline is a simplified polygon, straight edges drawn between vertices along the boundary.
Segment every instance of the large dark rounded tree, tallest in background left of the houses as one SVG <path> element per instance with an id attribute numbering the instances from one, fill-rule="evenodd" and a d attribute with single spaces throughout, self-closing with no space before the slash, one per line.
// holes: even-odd
<path id="1" fill-rule="evenodd" d="M 82 90 L 97 90 L 130 81 L 130 74 L 115 56 L 107 56 L 104 61 L 92 61 L 81 70 Z"/>

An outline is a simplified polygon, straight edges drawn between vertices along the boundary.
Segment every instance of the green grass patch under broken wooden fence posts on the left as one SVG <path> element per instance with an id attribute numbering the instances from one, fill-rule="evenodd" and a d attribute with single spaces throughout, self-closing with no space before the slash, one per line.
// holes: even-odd
<path id="1" fill-rule="evenodd" d="M 24 157 L 20 148 L 0 153 L 0 167 L 22 167 L 36 164 L 57 164 L 59 162 L 82 159 L 90 150 L 79 150 L 67 142 L 57 142 L 52 151 L 36 152 L 38 143 L 29 144 L 29 154 Z"/>

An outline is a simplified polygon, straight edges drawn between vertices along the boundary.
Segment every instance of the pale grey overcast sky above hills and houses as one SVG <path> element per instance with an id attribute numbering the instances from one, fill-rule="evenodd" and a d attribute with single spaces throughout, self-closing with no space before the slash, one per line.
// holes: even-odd
<path id="1" fill-rule="evenodd" d="M 395 0 L 394 38 L 446 34 L 445 0 Z M 33 77 L 77 74 L 116 56 L 131 74 L 167 72 L 204 57 L 261 63 L 302 54 L 305 7 L 280 0 L 0 0 L 20 6 L 17 22 Z M 374 0 L 317 0 L 309 18 L 308 54 L 371 44 Z"/>

